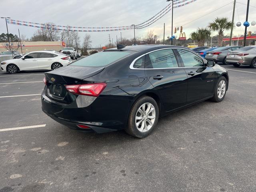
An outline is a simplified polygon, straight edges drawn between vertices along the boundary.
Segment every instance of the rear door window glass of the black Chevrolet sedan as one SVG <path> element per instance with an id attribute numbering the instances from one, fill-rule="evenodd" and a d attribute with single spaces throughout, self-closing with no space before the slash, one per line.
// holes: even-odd
<path id="1" fill-rule="evenodd" d="M 145 68 L 178 68 L 178 62 L 172 49 L 164 49 L 146 54 Z"/>

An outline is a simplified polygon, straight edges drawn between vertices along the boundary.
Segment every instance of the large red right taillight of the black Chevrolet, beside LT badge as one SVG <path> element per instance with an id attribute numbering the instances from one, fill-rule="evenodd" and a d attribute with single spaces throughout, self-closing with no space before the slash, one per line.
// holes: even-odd
<path id="1" fill-rule="evenodd" d="M 66 89 L 70 93 L 98 97 L 106 86 L 106 83 L 66 85 Z"/>

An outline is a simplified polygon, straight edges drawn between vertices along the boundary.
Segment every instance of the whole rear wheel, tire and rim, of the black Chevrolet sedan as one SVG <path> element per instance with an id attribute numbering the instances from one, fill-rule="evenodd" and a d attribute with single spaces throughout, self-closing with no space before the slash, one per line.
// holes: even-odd
<path id="1" fill-rule="evenodd" d="M 130 110 L 126 132 L 137 138 L 148 136 L 158 122 L 159 108 L 156 101 L 143 96 L 136 100 Z"/>

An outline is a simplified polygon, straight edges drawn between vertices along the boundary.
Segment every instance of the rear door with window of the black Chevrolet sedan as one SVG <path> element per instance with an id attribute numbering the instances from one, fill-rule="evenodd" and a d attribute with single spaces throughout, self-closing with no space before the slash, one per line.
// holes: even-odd
<path id="1" fill-rule="evenodd" d="M 162 97 L 166 112 L 186 104 L 187 75 L 179 66 L 173 49 L 156 50 L 146 54 L 145 73 Z"/>

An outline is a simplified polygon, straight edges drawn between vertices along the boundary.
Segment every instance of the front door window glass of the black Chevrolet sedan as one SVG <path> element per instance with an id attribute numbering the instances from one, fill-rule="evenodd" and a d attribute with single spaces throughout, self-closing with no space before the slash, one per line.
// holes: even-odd
<path id="1" fill-rule="evenodd" d="M 204 66 L 204 62 L 202 58 L 198 55 L 185 50 L 185 49 L 177 49 L 180 57 L 183 61 L 184 67 L 201 67 Z"/>

